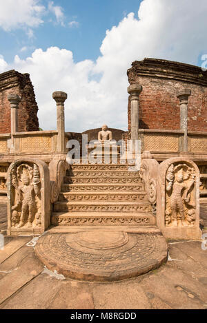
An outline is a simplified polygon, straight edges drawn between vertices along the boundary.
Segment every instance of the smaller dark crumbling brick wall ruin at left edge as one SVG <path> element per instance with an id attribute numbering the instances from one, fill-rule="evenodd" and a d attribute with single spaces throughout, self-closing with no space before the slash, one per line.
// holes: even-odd
<path id="1" fill-rule="evenodd" d="M 8 94 L 18 94 L 21 97 L 18 113 L 18 132 L 39 130 L 37 118 L 37 102 L 34 89 L 28 73 L 21 74 L 15 70 L 0 74 L 0 133 L 10 133 L 10 103 Z"/>

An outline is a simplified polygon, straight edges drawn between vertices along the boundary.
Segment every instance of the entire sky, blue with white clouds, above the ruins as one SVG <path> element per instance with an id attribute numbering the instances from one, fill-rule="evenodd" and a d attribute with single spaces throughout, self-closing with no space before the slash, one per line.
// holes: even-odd
<path id="1" fill-rule="evenodd" d="M 0 72 L 30 73 L 43 129 L 62 90 L 66 131 L 126 130 L 132 61 L 207 67 L 206 16 L 206 0 L 0 0 Z"/>

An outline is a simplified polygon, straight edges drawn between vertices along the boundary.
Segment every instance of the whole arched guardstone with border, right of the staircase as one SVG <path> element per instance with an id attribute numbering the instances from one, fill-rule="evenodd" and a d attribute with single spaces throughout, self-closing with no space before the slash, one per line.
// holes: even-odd
<path id="1" fill-rule="evenodd" d="M 157 226 L 166 238 L 201 238 L 199 182 L 199 169 L 192 160 L 176 157 L 159 165 Z"/>

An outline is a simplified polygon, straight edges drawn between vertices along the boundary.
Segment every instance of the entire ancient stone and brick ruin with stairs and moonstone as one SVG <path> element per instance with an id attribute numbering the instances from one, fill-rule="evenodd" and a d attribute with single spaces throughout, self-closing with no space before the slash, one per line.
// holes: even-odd
<path id="1" fill-rule="evenodd" d="M 29 84 L 28 74 L 18 77 Z M 10 112 L 10 126 L 0 129 L 7 234 L 44 233 L 37 256 L 66 277 L 135 277 L 166 262 L 167 240 L 201 239 L 207 74 L 192 65 L 144 59 L 132 63 L 128 79 L 128 132 L 107 125 L 66 132 L 64 92 L 52 94 L 57 129 L 39 132 L 37 120 L 30 118 L 30 127 L 25 123 L 22 130 L 21 109 L 30 107 L 29 112 L 33 106 L 37 112 L 32 85 L 30 101 L 23 86 L 18 85 L 22 92 L 18 86 L 2 92 Z"/>

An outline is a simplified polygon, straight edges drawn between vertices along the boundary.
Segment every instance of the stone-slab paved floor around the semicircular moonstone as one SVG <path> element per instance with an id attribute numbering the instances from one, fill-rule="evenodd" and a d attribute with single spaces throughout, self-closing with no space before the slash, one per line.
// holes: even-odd
<path id="1" fill-rule="evenodd" d="M 0 231 L 6 205 L 0 200 Z M 207 233 L 207 203 L 201 203 Z M 30 237 L 5 238 L 0 309 L 207 309 L 207 250 L 201 241 L 168 242 L 168 262 L 137 278 L 81 282 L 43 267 Z"/>

